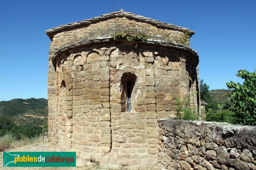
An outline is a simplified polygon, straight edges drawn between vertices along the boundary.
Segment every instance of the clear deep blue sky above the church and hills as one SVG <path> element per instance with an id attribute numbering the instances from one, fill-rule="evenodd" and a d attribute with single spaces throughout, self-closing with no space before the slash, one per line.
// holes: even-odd
<path id="1" fill-rule="evenodd" d="M 45 30 L 124 9 L 182 26 L 196 33 L 191 48 L 198 51 L 199 76 L 210 89 L 242 83 L 241 69 L 256 68 L 255 0 L 183 1 L 2 1 L 0 7 L 0 101 L 47 99 L 50 39 Z"/>

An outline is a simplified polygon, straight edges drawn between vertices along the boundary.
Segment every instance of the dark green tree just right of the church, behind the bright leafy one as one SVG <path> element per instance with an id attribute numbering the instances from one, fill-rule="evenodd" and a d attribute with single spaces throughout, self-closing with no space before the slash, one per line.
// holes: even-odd
<path id="1" fill-rule="evenodd" d="M 209 87 L 210 86 L 206 85 L 203 80 L 200 80 L 200 98 L 201 100 L 204 100 L 206 103 L 208 103 L 208 105 L 205 106 L 206 112 L 211 112 L 214 114 L 217 113 L 218 104 L 217 101 L 214 100 L 213 96 L 210 94 Z"/>

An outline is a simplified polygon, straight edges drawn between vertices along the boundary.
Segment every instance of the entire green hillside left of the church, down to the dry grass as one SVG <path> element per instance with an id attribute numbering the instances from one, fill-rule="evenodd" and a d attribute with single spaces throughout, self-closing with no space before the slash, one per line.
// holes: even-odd
<path id="1" fill-rule="evenodd" d="M 34 138 L 47 123 L 46 99 L 13 99 L 0 102 L 0 137 L 11 135 L 16 140 Z"/>

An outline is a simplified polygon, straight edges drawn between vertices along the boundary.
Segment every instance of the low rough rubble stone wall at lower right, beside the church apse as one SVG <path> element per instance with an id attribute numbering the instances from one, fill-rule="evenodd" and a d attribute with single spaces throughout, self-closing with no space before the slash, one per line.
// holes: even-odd
<path id="1" fill-rule="evenodd" d="M 163 169 L 255 170 L 256 127 L 157 120 Z"/>

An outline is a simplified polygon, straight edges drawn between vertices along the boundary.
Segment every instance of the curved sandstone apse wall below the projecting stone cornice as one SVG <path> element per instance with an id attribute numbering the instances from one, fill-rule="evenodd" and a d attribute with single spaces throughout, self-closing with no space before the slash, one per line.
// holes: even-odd
<path id="1" fill-rule="evenodd" d="M 78 162 L 105 166 L 157 162 L 156 118 L 170 118 L 175 99 L 197 91 L 198 61 L 180 49 L 135 45 L 78 46 L 50 62 L 49 150 L 73 151 Z M 134 81 L 132 111 L 126 109 L 125 76 Z M 190 104 L 197 101 L 192 96 Z"/>

